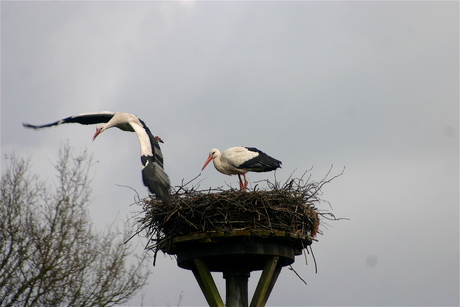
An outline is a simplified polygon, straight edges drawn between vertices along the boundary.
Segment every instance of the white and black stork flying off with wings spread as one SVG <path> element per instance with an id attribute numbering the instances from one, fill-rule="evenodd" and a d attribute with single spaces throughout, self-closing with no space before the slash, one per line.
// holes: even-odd
<path id="1" fill-rule="evenodd" d="M 23 124 L 24 127 L 40 129 L 66 123 L 92 125 L 105 123 L 96 127 L 93 140 L 103 131 L 117 127 L 123 131 L 136 132 L 141 147 L 142 180 L 150 192 L 163 200 L 170 197 L 169 177 L 163 169 L 163 154 L 158 141 L 159 137 L 153 136 L 150 129 L 137 116 L 124 112 L 95 112 L 84 113 L 58 120 L 46 125 Z"/>

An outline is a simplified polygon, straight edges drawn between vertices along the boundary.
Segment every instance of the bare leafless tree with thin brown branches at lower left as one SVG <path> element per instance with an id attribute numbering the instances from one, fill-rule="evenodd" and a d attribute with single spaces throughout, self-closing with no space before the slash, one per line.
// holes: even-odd
<path id="1" fill-rule="evenodd" d="M 51 185 L 30 158 L 6 156 L 0 199 L 0 306 L 113 306 L 147 282 L 130 231 L 95 231 L 87 205 L 91 158 L 63 145 Z M 134 260 L 133 260 L 134 259 Z"/>

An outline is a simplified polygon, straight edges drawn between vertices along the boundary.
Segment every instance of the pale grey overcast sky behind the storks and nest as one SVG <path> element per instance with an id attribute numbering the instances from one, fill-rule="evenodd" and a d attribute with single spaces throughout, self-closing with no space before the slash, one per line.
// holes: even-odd
<path id="1" fill-rule="evenodd" d="M 308 285 L 283 269 L 269 305 L 459 304 L 457 1 L 2 1 L 1 35 L 2 167 L 4 154 L 29 154 L 51 181 L 63 142 L 87 148 L 101 228 L 138 210 L 119 185 L 148 195 L 135 134 L 92 142 L 93 126 L 23 122 L 136 114 L 164 140 L 173 185 L 195 177 L 213 147 L 255 146 L 283 162 L 281 181 L 346 167 L 323 198 L 349 220 L 323 224 L 318 273 L 298 257 Z M 238 182 L 212 165 L 200 180 Z M 141 294 L 144 306 L 176 306 L 180 295 L 181 306 L 206 305 L 168 256 L 142 292 L 130 306 Z"/>

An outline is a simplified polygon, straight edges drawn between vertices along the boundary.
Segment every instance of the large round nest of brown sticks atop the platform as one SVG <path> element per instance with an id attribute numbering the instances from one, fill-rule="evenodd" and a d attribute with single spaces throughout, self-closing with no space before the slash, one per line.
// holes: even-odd
<path id="1" fill-rule="evenodd" d="M 343 172 L 342 172 L 343 173 Z M 281 185 L 266 181 L 268 189 L 195 190 L 181 186 L 169 202 L 141 200 L 147 249 L 175 254 L 184 242 L 276 241 L 302 250 L 320 233 L 321 218 L 334 215 L 318 209 L 321 188 L 337 176 L 319 182 L 289 179 Z M 327 202 L 326 202 L 327 203 Z M 190 246 L 190 245 L 189 245 Z"/>

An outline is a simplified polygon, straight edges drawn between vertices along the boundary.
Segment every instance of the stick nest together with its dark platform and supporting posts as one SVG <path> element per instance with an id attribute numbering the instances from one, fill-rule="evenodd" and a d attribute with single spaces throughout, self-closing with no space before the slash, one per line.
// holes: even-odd
<path id="1" fill-rule="evenodd" d="M 334 177 L 335 178 L 335 177 Z M 319 233 L 317 205 L 321 187 L 330 180 L 290 181 L 270 190 L 176 192 L 171 201 L 143 201 L 140 221 L 149 236 L 147 249 L 175 255 L 192 270 L 210 306 L 264 306 L 281 268 L 311 245 Z M 262 270 L 251 304 L 247 281 Z M 223 272 L 223 303 L 212 279 Z"/>

